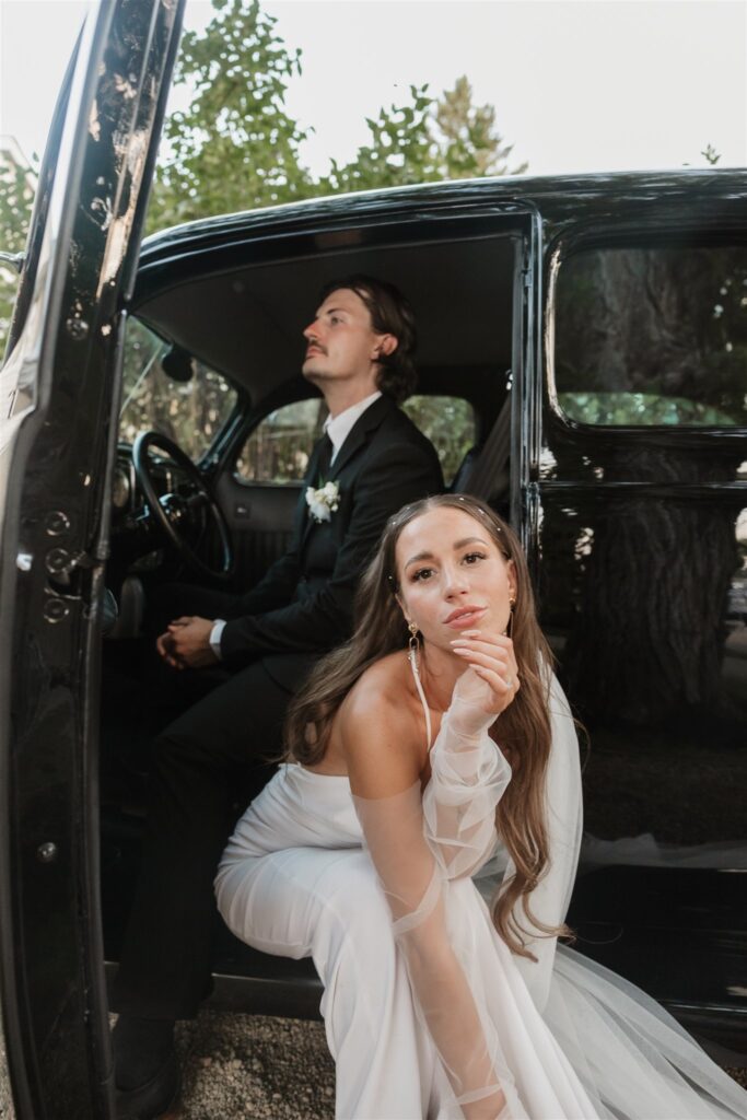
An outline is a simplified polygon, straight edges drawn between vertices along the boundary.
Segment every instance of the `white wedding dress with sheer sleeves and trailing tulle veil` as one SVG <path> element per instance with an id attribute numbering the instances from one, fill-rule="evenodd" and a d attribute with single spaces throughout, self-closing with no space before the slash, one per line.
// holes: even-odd
<path id="1" fill-rule="evenodd" d="M 554 939 L 530 942 L 534 962 L 497 935 L 470 876 L 495 853 L 495 805 L 511 769 L 488 721 L 476 726 L 464 709 L 454 701 L 443 716 L 422 794 L 418 784 L 357 799 L 346 777 L 284 765 L 221 861 L 218 907 L 236 936 L 314 959 L 335 1116 L 747 1118 L 747 1093 L 637 988 Z M 557 926 L 581 804 L 576 731 L 554 679 L 550 710 L 552 858 L 531 906 Z"/>

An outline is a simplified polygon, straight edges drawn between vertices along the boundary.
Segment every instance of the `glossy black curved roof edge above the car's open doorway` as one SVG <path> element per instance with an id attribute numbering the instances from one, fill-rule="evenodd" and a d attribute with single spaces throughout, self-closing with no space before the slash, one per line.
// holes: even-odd
<path id="1" fill-rule="evenodd" d="M 543 254 L 549 268 L 555 239 L 563 231 L 572 230 L 575 236 L 587 231 L 619 234 L 627 224 L 652 234 L 679 227 L 685 220 L 699 228 L 745 230 L 745 190 L 741 170 L 506 177 L 371 190 L 222 215 L 147 237 L 134 301 L 141 302 L 164 278 L 169 278 L 169 263 L 174 267 L 177 260 L 187 279 L 192 258 L 200 253 L 225 253 L 220 260 L 227 265 L 233 263 L 232 251 L 249 242 L 295 234 L 311 234 L 319 251 L 332 251 L 372 242 L 376 230 L 380 240 L 389 241 L 392 228 L 403 222 L 414 223 L 423 234 L 431 222 L 455 217 L 474 218 L 473 233 L 485 234 L 491 217 L 527 209 L 542 220 Z M 678 212 L 682 218 L 678 218 Z M 292 243 L 289 248 L 292 251 Z M 214 260 L 217 262 L 218 256 Z"/>

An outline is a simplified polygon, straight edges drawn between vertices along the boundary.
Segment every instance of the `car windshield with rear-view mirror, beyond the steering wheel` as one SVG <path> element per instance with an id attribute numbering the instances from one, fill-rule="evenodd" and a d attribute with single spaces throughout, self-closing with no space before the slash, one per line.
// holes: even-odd
<path id="1" fill-rule="evenodd" d="M 130 319 L 124 343 L 120 440 L 131 444 L 140 431 L 159 431 L 190 458 L 198 459 L 235 403 L 235 389 L 220 373 L 187 354 L 174 352 L 138 319 Z"/>

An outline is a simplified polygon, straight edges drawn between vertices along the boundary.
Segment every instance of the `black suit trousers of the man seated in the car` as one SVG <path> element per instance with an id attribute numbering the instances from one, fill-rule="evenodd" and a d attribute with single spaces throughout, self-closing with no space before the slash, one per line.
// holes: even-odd
<path id="1" fill-rule="evenodd" d="M 178 609 L 172 589 L 170 617 L 220 616 L 216 596 L 192 591 L 189 609 Z M 274 769 L 267 758 L 280 753 L 291 697 L 259 661 L 227 678 L 169 670 L 165 687 L 188 694 L 190 678 L 196 693 L 211 691 L 155 743 L 142 866 L 114 983 L 114 1010 L 148 1018 L 192 1018 L 209 991 L 213 879 L 248 801 L 239 791 L 258 790 Z"/>

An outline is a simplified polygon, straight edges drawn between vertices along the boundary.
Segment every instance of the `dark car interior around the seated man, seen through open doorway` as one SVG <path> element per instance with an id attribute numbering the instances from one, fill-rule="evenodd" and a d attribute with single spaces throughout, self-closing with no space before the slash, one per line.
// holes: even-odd
<path id="1" fill-rule="evenodd" d="M 246 236 L 242 244 L 234 226 L 223 243 L 198 250 L 180 245 L 178 231 L 162 252 L 158 239 L 143 246 L 125 336 L 113 477 L 108 585 L 116 617 L 112 613 L 103 659 L 102 900 L 109 962 L 119 956 L 144 819 L 152 726 L 140 718 L 137 675 L 149 617 L 164 584 L 244 590 L 286 549 L 325 414 L 317 391 L 299 373 L 302 330 L 329 280 L 373 274 L 405 293 L 418 325 L 419 383 L 404 407 L 435 444 L 447 486 L 475 488 L 507 513 L 521 233 L 515 221 L 482 236 L 455 237 L 446 225 L 429 230 L 427 239 L 389 243 L 371 243 L 364 231 L 348 230 L 332 245 L 323 235 L 292 244 Z M 196 386 L 202 402 L 195 400 Z M 148 428 L 159 436 L 143 448 Z M 188 461 L 170 454 L 162 437 L 174 439 L 177 450 L 181 445 Z M 489 488 L 479 477 L 484 448 Z M 160 516 L 158 510 L 153 516 L 150 507 L 159 504 Z M 221 524 L 230 562 L 216 531 Z M 236 816 L 251 792 L 237 795 Z M 309 962 L 262 958 L 224 928 L 216 936 L 214 972 L 234 981 L 254 977 L 254 1010 L 317 1014 Z M 216 998 L 241 1001 L 241 988 L 218 982 Z"/>

